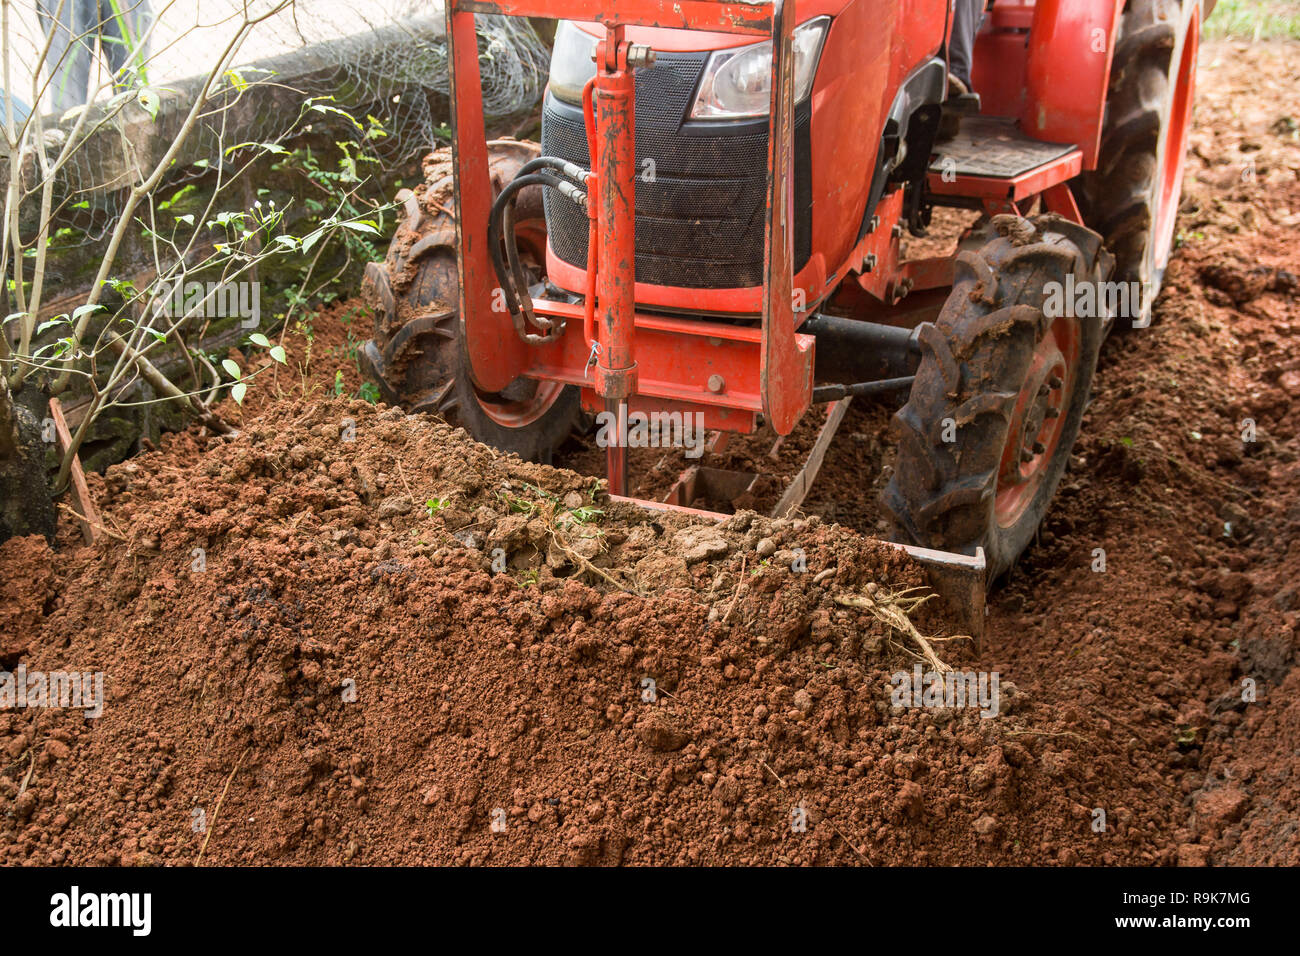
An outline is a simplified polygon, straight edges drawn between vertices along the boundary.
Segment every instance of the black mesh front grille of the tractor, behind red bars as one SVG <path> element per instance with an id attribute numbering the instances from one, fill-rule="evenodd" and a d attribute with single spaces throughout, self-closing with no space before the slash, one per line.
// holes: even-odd
<path id="1" fill-rule="evenodd" d="M 707 53 L 660 53 L 637 73 L 636 278 L 681 289 L 763 284 L 767 117 L 686 121 Z M 811 105 L 794 116 L 794 269 L 812 246 Z M 582 109 L 546 96 L 542 152 L 590 168 Z M 654 177 L 644 176 L 651 166 Z M 586 268 L 588 219 L 546 191 L 546 226 L 562 260 Z"/>

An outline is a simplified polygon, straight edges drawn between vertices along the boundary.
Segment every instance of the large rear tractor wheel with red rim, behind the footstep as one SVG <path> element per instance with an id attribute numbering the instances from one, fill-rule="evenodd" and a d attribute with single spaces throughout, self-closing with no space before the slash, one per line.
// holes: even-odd
<path id="1" fill-rule="evenodd" d="M 1150 324 L 1165 278 L 1187 160 L 1199 43 L 1197 0 L 1127 0 L 1115 38 L 1097 169 L 1071 182 L 1083 221 L 1115 258 L 1139 307 L 1115 328 Z"/>

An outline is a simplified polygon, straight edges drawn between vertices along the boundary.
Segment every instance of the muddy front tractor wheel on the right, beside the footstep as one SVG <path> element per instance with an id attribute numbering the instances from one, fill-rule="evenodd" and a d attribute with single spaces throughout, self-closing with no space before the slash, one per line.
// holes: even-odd
<path id="1" fill-rule="evenodd" d="M 1100 317 L 1074 315 L 1088 310 L 1052 304 L 1050 284 L 1069 289 L 1072 276 L 1079 289 L 1112 267 L 1101 237 L 1058 216 L 996 216 L 983 246 L 958 254 L 893 420 L 898 457 L 881 503 L 896 541 L 983 548 L 989 584 L 1015 563 L 1079 436 L 1104 337 Z"/>

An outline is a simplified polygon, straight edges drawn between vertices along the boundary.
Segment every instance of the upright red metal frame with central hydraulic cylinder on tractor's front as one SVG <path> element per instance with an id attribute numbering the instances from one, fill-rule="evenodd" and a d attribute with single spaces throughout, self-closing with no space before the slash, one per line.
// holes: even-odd
<path id="1" fill-rule="evenodd" d="M 640 394 L 690 402 L 715 412 L 729 408 L 741 412 L 738 418 L 749 427 L 753 412 L 762 410 L 777 433 L 785 434 L 794 428 L 811 403 L 812 338 L 796 334 L 797 320 L 802 316 L 796 315 L 797 303 L 792 298 L 794 57 L 790 36 L 794 23 L 793 17 L 786 16 L 789 10 L 792 5 L 785 0 L 619 0 L 616 9 L 608 0 L 447 1 L 456 203 L 463 211 L 456 217 L 460 334 L 469 355 L 471 376 L 478 388 L 497 392 L 520 376 L 529 376 L 581 384 L 608 398 Z M 478 13 L 586 20 L 603 23 L 608 30 L 598 53 L 603 69 L 595 85 L 599 139 L 595 165 L 601 182 L 597 304 L 602 347 L 593 378 L 588 378 L 590 350 L 576 333 L 580 323 L 572 323 L 573 332 L 551 346 L 525 345 L 515 336 L 510 315 L 500 308 L 500 297 L 495 295 L 486 222 L 494 196 L 488 176 L 474 34 Z M 710 378 L 727 382 L 716 390 L 707 386 L 701 390 L 701 382 L 693 380 L 701 368 L 699 354 L 690 355 L 689 360 L 682 354 L 684 347 L 698 349 L 701 341 L 701 336 L 689 333 L 686 326 L 706 328 L 708 324 L 650 320 L 634 311 L 634 83 L 632 70 L 627 69 L 627 44 L 623 42 L 623 27 L 632 25 L 772 39 L 762 321 L 759 329 L 748 329 L 745 336 L 705 336 L 707 341 L 727 343 L 714 350 L 727 367 L 727 371 L 710 373 Z M 555 315 L 563 306 L 538 302 L 537 311 Z M 758 365 L 757 377 L 750 371 L 753 364 Z"/>

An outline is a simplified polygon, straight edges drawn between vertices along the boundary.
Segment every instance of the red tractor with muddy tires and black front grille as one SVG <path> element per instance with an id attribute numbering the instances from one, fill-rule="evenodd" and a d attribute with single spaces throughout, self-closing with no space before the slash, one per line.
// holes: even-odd
<path id="1" fill-rule="evenodd" d="M 952 0 L 447 0 L 454 159 L 368 269 L 368 372 L 538 460 L 584 410 L 786 434 L 831 403 L 828 441 L 852 397 L 905 394 L 894 538 L 982 605 L 1102 339 L 1149 320 L 1209 7 L 996 0 L 972 108 Z M 486 142 L 477 14 L 567 18 L 540 146 Z M 954 254 L 902 258 L 936 207 L 982 215 Z"/>

